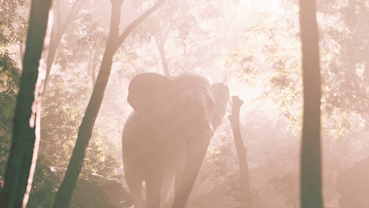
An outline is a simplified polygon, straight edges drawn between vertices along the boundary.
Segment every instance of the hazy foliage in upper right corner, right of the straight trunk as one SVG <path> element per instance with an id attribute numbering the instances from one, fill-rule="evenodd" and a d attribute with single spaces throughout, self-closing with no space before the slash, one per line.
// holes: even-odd
<path id="1" fill-rule="evenodd" d="M 326 0 L 318 4 L 322 52 L 328 55 L 323 64 L 323 78 L 327 83 L 325 103 L 341 112 L 358 113 L 366 121 L 369 77 L 365 69 L 368 58 L 364 54 L 369 50 L 365 36 L 369 30 L 368 8 L 365 1 Z M 327 110 L 332 112 L 334 108 Z"/>

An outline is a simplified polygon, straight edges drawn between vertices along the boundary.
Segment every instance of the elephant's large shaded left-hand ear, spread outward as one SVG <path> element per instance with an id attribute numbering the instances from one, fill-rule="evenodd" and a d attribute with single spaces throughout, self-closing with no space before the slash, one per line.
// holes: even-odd
<path id="1" fill-rule="evenodd" d="M 147 123 L 158 131 L 169 125 L 170 85 L 173 80 L 156 73 L 138 74 L 128 86 L 128 103 Z"/>

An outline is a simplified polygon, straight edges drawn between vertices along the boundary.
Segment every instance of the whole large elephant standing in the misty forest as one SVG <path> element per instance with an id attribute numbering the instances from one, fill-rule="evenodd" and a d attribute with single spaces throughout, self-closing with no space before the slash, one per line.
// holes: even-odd
<path id="1" fill-rule="evenodd" d="M 136 208 L 142 207 L 142 181 L 147 208 L 159 208 L 168 198 L 161 197 L 163 181 L 173 177 L 172 207 L 186 205 L 228 99 L 227 85 L 210 84 L 197 73 L 175 78 L 142 73 L 132 78 L 127 101 L 133 111 L 123 128 L 122 152 L 124 177 Z"/>

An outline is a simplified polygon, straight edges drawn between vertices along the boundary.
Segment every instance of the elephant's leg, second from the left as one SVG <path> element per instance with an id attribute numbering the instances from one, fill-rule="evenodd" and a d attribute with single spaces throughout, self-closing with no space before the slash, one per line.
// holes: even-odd
<path id="1" fill-rule="evenodd" d="M 160 208 L 160 195 L 163 185 L 163 175 L 154 175 L 152 172 L 145 175 L 146 182 L 146 207 Z"/>

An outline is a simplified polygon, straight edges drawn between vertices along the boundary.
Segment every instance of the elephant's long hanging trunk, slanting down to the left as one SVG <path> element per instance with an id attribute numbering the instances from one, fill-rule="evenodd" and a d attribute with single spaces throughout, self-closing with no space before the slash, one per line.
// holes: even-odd
<path id="1" fill-rule="evenodd" d="M 207 128 L 201 128 L 201 133 L 186 140 L 186 162 L 178 191 L 175 195 L 172 208 L 183 208 L 195 183 L 201 164 L 204 161 L 207 148 L 214 131 L 207 123 Z"/>

